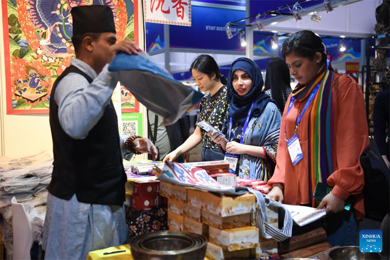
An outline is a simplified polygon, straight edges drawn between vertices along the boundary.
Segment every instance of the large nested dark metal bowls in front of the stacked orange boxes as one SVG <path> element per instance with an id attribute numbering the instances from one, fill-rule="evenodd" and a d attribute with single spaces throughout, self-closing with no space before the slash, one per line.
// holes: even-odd
<path id="1" fill-rule="evenodd" d="M 135 237 L 130 242 L 134 259 L 203 260 L 207 240 L 202 235 L 180 231 L 157 231 Z"/>

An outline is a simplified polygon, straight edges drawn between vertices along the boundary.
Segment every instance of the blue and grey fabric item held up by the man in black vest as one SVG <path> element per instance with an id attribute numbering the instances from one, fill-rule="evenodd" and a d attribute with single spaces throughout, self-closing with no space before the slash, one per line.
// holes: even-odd
<path id="1" fill-rule="evenodd" d="M 198 106 L 203 94 L 175 80 L 148 54 L 119 53 L 109 71 L 119 73 L 119 81 L 149 110 L 164 118 L 161 125 L 175 123 Z"/>

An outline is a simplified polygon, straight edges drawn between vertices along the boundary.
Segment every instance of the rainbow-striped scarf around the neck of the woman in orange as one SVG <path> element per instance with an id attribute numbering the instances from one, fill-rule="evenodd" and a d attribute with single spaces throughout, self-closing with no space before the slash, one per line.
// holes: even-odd
<path id="1" fill-rule="evenodd" d="M 312 206 L 316 206 L 313 191 L 317 182 L 326 183 L 333 172 L 333 105 L 332 82 L 334 72 L 324 66 L 308 85 L 298 84 L 292 92 L 292 97 L 299 101 L 306 100 L 315 86 L 320 83 L 317 94 L 312 100 L 309 115 L 309 196 Z"/>

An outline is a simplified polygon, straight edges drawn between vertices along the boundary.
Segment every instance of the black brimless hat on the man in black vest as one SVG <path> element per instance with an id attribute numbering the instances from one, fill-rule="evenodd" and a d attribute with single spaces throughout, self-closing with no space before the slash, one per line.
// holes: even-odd
<path id="1" fill-rule="evenodd" d="M 117 33 L 114 15 L 106 5 L 84 5 L 73 7 L 73 35 L 84 33 Z"/>

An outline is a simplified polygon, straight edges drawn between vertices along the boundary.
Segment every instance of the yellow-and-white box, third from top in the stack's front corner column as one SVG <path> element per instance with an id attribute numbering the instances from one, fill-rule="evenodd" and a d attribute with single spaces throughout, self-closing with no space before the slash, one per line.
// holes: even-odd
<path id="1" fill-rule="evenodd" d="M 228 251 L 255 248 L 259 244 L 259 229 L 238 227 L 221 230 L 209 226 L 209 242 Z"/>

